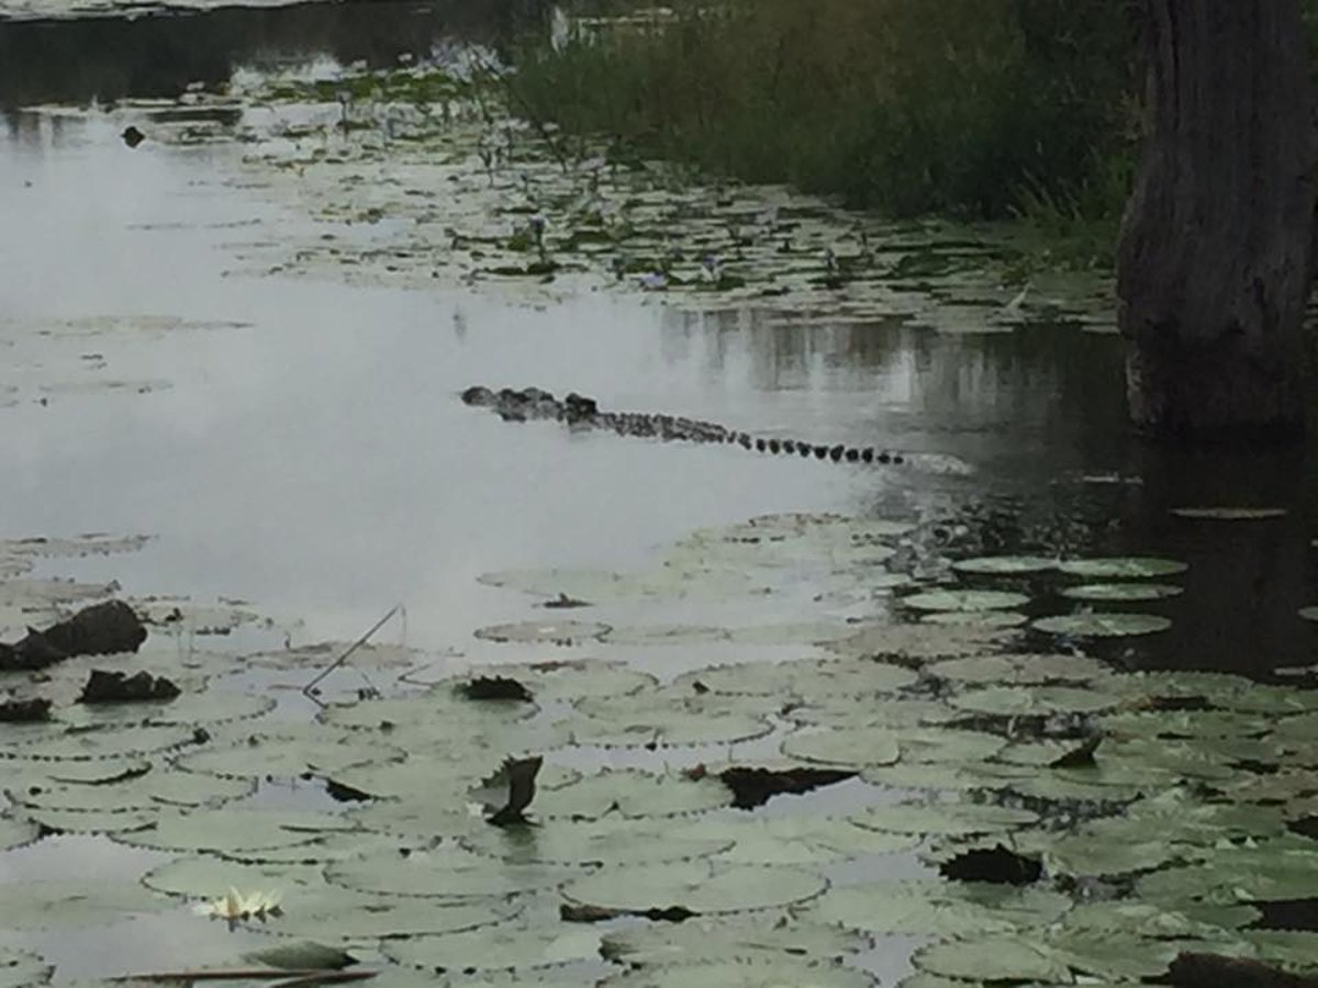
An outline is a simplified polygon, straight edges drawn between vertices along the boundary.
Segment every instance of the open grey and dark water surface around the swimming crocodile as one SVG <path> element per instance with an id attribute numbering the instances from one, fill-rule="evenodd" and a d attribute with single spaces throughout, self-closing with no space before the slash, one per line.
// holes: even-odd
<path id="1" fill-rule="evenodd" d="M 173 96 L 262 59 L 386 63 L 428 50 L 464 7 L 0 24 L 0 104 Z M 304 615 L 316 635 L 353 635 L 405 601 L 418 644 L 463 643 L 478 624 L 521 617 L 474 585 L 481 570 L 626 565 L 692 527 L 760 511 L 882 511 L 945 519 L 945 555 L 1184 559 L 1186 593 L 1152 606 L 1173 630 L 1111 649 L 1126 661 L 1261 671 L 1311 660 L 1311 627 L 1296 617 L 1318 599 L 1309 456 L 1141 444 L 1124 427 L 1112 337 L 1050 325 L 948 336 L 600 299 L 536 311 L 229 279 L 240 240 L 310 229 L 291 207 L 223 184 L 237 150 L 129 151 L 96 117 L 14 111 L 9 121 L 0 310 L 17 321 L 0 331 L 12 357 L 0 386 L 17 404 L 0 411 L 4 535 L 157 532 L 140 557 L 105 563 L 130 591 L 239 594 Z M 79 335 L 61 321 L 107 315 L 224 327 Z M 171 387 L 37 399 L 34 382 L 82 383 L 92 353 L 113 379 Z M 476 382 L 946 452 L 981 469 L 963 481 L 513 427 L 456 400 Z M 1195 505 L 1289 514 L 1169 514 Z"/>

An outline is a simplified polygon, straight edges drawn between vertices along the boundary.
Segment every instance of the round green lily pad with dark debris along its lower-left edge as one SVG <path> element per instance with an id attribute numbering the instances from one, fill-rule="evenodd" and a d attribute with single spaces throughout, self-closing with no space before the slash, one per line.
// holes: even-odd
<path id="1" fill-rule="evenodd" d="M 693 913 L 735 913 L 804 902 L 828 887 L 800 868 L 712 862 L 602 868 L 563 887 L 573 902 L 646 912 L 683 906 Z"/>

